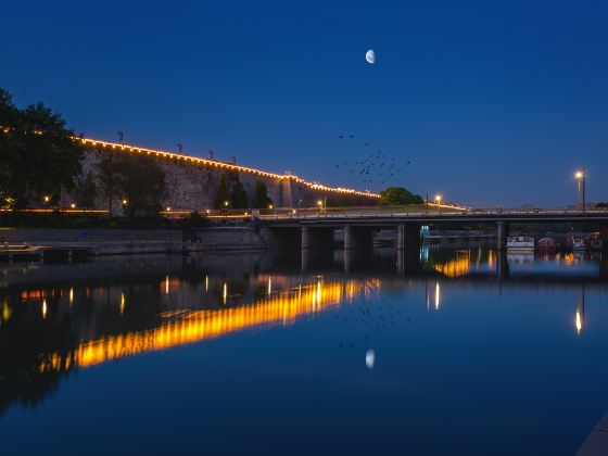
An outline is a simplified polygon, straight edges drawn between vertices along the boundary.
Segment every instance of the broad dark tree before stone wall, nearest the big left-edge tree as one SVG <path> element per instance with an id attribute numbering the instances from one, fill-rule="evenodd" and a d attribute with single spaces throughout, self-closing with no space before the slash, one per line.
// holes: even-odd
<path id="1" fill-rule="evenodd" d="M 109 152 L 96 166 L 101 194 L 111 211 L 114 202 L 126 201 L 128 217 L 153 215 L 166 197 L 165 173 L 151 156 Z"/>

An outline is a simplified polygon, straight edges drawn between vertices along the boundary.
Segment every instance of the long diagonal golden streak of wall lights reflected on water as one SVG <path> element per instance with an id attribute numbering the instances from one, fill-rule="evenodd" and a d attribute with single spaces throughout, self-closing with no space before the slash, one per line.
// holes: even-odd
<path id="1" fill-rule="evenodd" d="M 296 318 L 321 309 L 338 307 L 367 293 L 379 290 L 380 280 L 302 284 L 255 304 L 217 311 L 193 311 L 177 314 L 175 319 L 156 328 L 138 332 L 109 335 L 80 343 L 71 354 L 43 356 L 40 372 L 65 369 L 66 366 L 88 367 L 97 364 L 156 352 L 205 339 L 217 338 L 239 330 L 288 325 Z"/>

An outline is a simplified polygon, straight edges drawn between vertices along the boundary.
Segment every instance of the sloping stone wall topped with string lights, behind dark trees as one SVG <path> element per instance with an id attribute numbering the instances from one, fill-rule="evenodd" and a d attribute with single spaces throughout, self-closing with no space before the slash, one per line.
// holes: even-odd
<path id="1" fill-rule="evenodd" d="M 83 161 L 83 172 L 86 175 L 89 170 L 94 174 L 96 164 L 99 163 L 104 154 L 115 148 L 97 147 L 89 150 L 85 154 Z M 134 151 L 116 151 L 117 153 L 145 153 L 139 150 Z M 153 155 L 153 154 L 152 154 Z M 289 176 L 270 175 L 268 173 L 255 169 L 243 170 L 249 168 L 240 168 L 239 170 L 230 170 L 230 164 L 213 161 L 194 161 L 179 160 L 178 157 L 154 156 L 165 172 L 165 183 L 167 188 L 167 197 L 163 201 L 163 206 L 169 206 L 174 211 L 204 211 L 214 207 L 214 201 L 217 192 L 217 182 L 220 175 L 226 174 L 228 182 L 237 180 L 246 190 L 250 199 L 253 197 L 255 182 L 263 181 L 267 189 L 268 195 L 273 200 L 276 207 L 312 207 L 316 206 L 317 200 L 324 198 L 346 198 L 355 205 L 372 205 L 377 199 L 364 194 L 345 194 L 337 191 L 314 189 L 309 183 L 303 182 Z M 107 201 L 99 194 L 96 201 L 96 208 L 106 210 Z M 68 194 L 64 195 L 62 204 L 68 206 L 73 198 Z M 118 199 L 114 202 L 113 213 L 121 214 L 122 207 Z"/>

